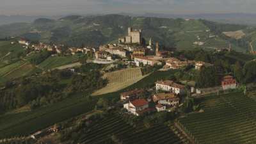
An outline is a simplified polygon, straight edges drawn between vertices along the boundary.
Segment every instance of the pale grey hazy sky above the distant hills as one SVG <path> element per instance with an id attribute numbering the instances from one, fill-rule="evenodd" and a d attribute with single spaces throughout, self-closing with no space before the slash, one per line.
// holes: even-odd
<path id="1" fill-rule="evenodd" d="M 0 0 L 0 15 L 256 13 L 256 0 Z"/>

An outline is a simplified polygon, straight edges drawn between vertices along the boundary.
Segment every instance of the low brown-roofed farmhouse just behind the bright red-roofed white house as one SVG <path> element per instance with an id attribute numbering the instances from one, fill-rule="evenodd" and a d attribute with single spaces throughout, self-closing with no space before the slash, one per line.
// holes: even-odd
<path id="1" fill-rule="evenodd" d="M 125 102 L 129 102 L 131 100 L 138 99 L 138 97 L 143 93 L 144 93 L 144 90 L 142 89 L 131 90 L 129 92 L 120 93 L 120 99 Z"/>

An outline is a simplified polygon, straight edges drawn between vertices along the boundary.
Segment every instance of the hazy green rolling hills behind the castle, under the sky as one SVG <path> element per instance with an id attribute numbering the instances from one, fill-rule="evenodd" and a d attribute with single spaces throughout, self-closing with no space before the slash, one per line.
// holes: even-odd
<path id="1" fill-rule="evenodd" d="M 15 23 L 0 26 L 0 38 L 19 35 L 30 40 L 53 42 L 69 46 L 99 46 L 117 42 L 127 35 L 127 28 L 143 29 L 145 40 L 153 38 L 161 45 L 189 50 L 227 48 L 232 44 L 236 51 L 248 51 L 247 38 L 252 29 L 237 24 L 220 24 L 201 19 L 168 19 L 161 17 L 130 17 L 127 15 L 81 16 L 69 15 L 57 20 L 36 19 L 31 23 Z M 234 40 L 223 35 L 225 31 L 243 30 L 244 38 Z M 255 36 L 256 37 L 256 36 Z M 247 41 L 246 41 L 247 40 Z"/>

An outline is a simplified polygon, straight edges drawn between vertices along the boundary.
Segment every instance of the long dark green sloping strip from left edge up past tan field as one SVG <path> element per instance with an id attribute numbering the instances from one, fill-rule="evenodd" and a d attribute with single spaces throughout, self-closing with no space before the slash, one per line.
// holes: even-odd
<path id="1" fill-rule="evenodd" d="M 153 86 L 157 80 L 167 79 L 171 74 L 173 74 L 173 72 L 170 71 L 154 72 L 150 76 L 141 79 L 138 83 L 132 84 L 124 90 L 93 97 L 93 102 L 90 103 L 88 103 L 86 97 L 82 97 L 83 95 L 86 95 L 86 93 L 78 93 L 77 96 L 72 96 L 62 102 L 58 102 L 45 108 L 39 108 L 35 111 L 2 115 L 0 116 L 0 138 L 31 134 L 49 125 L 92 111 L 97 99 L 100 97 L 119 99 L 120 92 L 134 88 Z"/>

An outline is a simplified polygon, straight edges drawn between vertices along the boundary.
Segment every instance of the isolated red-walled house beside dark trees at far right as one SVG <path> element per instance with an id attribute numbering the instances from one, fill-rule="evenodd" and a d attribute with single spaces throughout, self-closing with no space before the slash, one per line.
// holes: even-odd
<path id="1" fill-rule="evenodd" d="M 221 81 L 222 90 L 235 89 L 237 88 L 236 79 L 232 76 L 225 76 Z"/>

